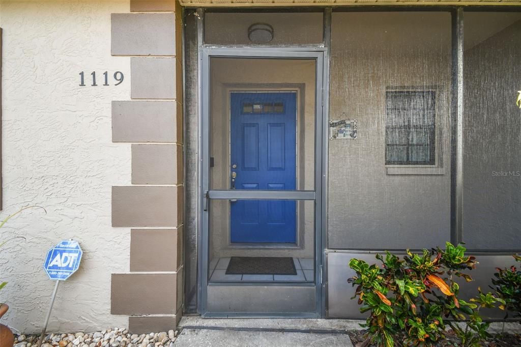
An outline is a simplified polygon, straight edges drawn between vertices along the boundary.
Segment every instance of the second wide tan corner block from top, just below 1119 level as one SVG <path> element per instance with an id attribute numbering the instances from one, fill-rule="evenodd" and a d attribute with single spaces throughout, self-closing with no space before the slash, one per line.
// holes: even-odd
<path id="1" fill-rule="evenodd" d="M 175 101 L 112 102 L 113 142 L 182 142 L 182 133 L 182 107 Z"/>

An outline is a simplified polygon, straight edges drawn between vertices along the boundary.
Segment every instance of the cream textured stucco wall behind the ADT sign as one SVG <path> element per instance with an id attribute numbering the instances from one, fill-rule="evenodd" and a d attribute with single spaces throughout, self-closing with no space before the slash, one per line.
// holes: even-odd
<path id="1" fill-rule="evenodd" d="M 61 283 L 49 331 L 127 326 L 110 315 L 110 274 L 129 270 L 130 231 L 112 228 L 112 185 L 130 182 L 130 144 L 111 142 L 111 100 L 130 100 L 130 59 L 110 55 L 110 14 L 127 1 L 0 0 L 4 29 L 4 210 L 38 204 L 0 229 L 0 240 L 24 236 L 0 250 L 2 323 L 41 329 L 54 282 L 42 269 L 47 249 L 74 238 L 81 269 Z M 85 84 L 97 73 L 98 86 Z M 102 86 L 102 73 L 125 81 Z"/>

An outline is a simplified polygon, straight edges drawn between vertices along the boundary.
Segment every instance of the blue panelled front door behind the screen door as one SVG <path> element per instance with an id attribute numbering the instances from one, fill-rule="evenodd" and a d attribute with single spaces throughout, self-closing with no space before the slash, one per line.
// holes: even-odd
<path id="1" fill-rule="evenodd" d="M 232 189 L 295 190 L 296 93 L 231 93 Z M 296 203 L 230 202 L 230 240 L 295 243 Z"/>

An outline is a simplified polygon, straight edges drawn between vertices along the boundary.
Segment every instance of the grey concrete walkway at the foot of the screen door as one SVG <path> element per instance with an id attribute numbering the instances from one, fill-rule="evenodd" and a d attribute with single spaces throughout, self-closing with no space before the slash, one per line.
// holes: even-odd
<path id="1" fill-rule="evenodd" d="M 183 317 L 175 346 L 344 346 L 346 333 L 360 327 L 356 320 L 340 319 L 204 319 Z"/>

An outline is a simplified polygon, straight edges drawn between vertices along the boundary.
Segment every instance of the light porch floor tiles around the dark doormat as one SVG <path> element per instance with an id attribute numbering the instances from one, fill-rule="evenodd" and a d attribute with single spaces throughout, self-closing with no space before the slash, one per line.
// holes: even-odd
<path id="1" fill-rule="evenodd" d="M 313 282 L 313 259 L 295 258 L 296 275 L 226 275 L 230 258 L 215 258 L 210 262 L 210 282 Z"/>

